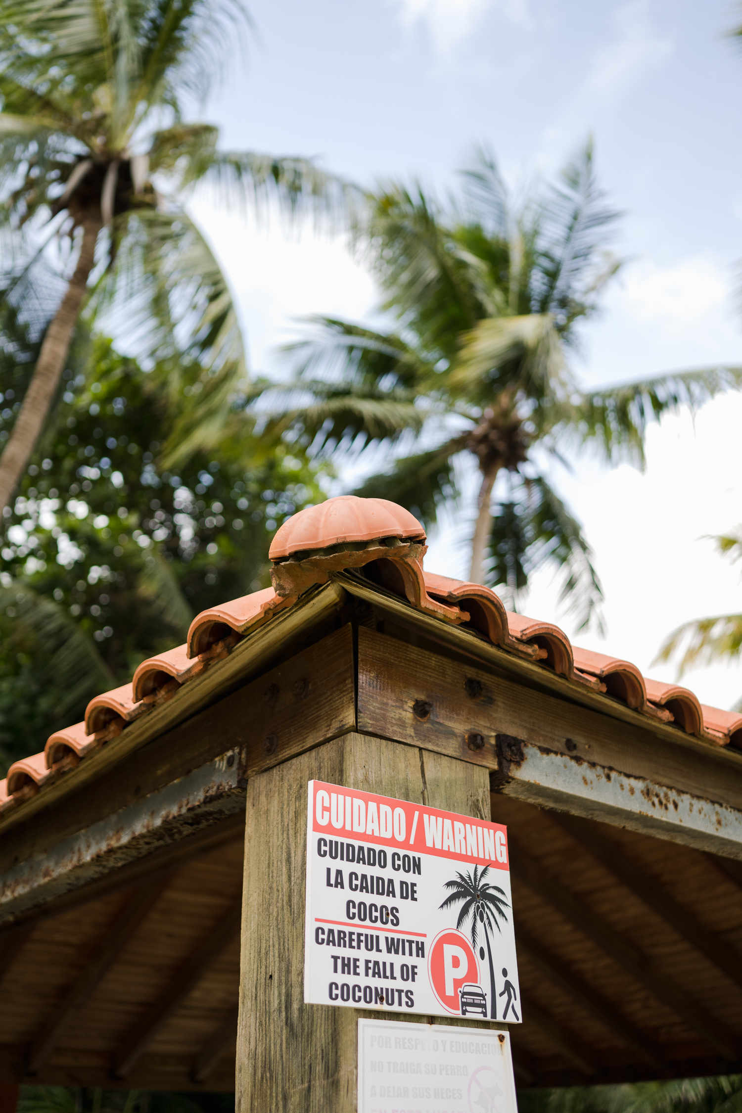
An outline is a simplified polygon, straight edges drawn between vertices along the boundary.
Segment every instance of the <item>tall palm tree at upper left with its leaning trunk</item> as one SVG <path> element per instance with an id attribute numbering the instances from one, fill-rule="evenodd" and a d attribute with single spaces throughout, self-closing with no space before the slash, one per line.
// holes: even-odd
<path id="1" fill-rule="evenodd" d="M 44 223 L 68 248 L 0 459 L 0 512 L 56 396 L 91 276 L 91 308 L 120 311 L 139 357 L 167 366 L 162 390 L 184 416 L 165 452 L 182 457 L 214 442 L 246 372 L 227 283 L 185 193 L 204 183 L 236 204 L 319 213 L 343 191 L 306 159 L 222 151 L 216 128 L 184 122 L 184 104 L 206 95 L 246 23 L 241 0 L 0 0 L 0 226 L 7 254 L 20 240 L 26 257 L 13 283 Z"/>

